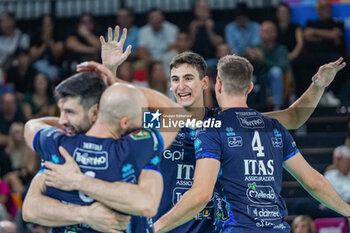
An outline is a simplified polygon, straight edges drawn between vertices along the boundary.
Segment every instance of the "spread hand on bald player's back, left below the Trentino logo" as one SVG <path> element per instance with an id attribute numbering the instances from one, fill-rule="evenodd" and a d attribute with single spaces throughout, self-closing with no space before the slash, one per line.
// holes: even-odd
<path id="1" fill-rule="evenodd" d="M 84 174 L 80 171 L 78 164 L 73 157 L 62 147 L 59 147 L 61 155 L 66 162 L 64 164 L 54 164 L 45 162 L 45 184 L 57 189 L 71 191 L 76 190 L 79 185 L 79 178 Z"/>

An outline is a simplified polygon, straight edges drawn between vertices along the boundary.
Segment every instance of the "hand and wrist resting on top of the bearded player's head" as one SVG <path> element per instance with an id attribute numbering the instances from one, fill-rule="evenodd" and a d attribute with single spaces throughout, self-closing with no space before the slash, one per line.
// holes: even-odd
<path id="1" fill-rule="evenodd" d="M 115 77 L 115 75 L 113 75 L 112 72 L 107 67 L 94 61 L 89 61 L 89 62 L 86 61 L 77 65 L 77 72 L 84 72 L 84 71 L 98 73 L 102 78 L 103 82 L 107 86 L 110 86 L 113 83 L 121 81 L 120 79 Z"/>

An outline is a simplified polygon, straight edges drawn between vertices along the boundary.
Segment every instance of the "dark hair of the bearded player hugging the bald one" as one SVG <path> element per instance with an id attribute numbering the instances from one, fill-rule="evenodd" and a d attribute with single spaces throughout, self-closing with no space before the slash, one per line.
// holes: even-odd
<path id="1" fill-rule="evenodd" d="M 57 101 L 66 97 L 80 97 L 80 104 L 85 110 L 98 104 L 106 84 L 94 72 L 77 73 L 61 82 L 55 88 Z"/>

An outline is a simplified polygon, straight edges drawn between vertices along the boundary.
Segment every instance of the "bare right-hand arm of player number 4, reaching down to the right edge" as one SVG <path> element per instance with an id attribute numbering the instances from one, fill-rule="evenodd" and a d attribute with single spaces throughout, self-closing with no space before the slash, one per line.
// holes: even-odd
<path id="1" fill-rule="evenodd" d="M 343 216 L 350 216 L 350 206 L 342 200 L 332 185 L 297 153 L 284 162 L 284 168 L 318 201 Z"/>

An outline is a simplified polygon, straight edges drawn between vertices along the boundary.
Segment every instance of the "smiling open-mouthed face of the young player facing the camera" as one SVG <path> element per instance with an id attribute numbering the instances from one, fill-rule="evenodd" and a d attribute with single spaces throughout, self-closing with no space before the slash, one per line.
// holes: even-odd
<path id="1" fill-rule="evenodd" d="M 203 107 L 203 90 L 208 77 L 199 78 L 199 72 L 190 64 L 180 64 L 170 71 L 171 88 L 177 103 L 183 107 Z"/>

